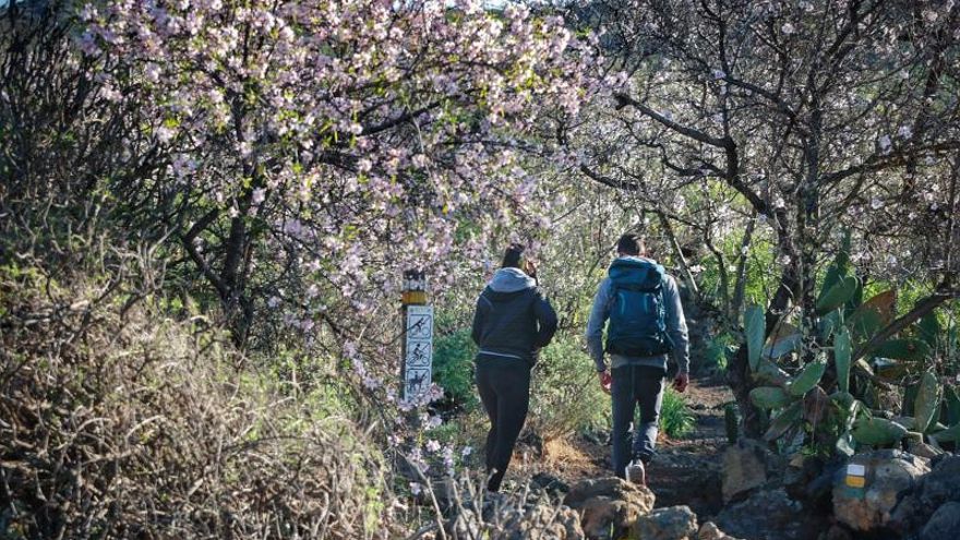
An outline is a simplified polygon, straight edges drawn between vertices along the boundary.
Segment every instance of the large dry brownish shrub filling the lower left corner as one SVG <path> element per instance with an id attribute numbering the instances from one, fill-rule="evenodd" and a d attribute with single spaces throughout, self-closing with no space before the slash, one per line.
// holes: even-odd
<path id="1" fill-rule="evenodd" d="M 352 422 L 238 372 L 202 317 L 41 275 L 0 266 L 0 537 L 385 530 L 383 458 Z"/>

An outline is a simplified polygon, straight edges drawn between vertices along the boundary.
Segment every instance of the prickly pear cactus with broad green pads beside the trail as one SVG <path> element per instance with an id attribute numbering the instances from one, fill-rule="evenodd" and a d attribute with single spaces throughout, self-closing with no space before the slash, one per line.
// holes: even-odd
<path id="1" fill-rule="evenodd" d="M 945 387 L 936 371 L 927 369 L 931 355 L 943 345 L 936 314 L 871 345 L 871 337 L 895 320 L 898 291 L 886 290 L 866 301 L 863 292 L 864 283 L 841 250 L 828 267 L 816 300 L 818 341 L 807 344 L 812 336 L 804 336 L 787 319 L 767 335 L 764 309 L 745 309 L 743 338 L 751 379 L 757 385 L 749 393 L 751 408 L 765 425 L 765 439 L 777 441 L 797 430 L 816 431 L 815 424 L 829 417 L 833 424 L 828 429 L 836 429 L 831 431 L 836 435 L 828 436 L 836 439 L 828 447 L 843 455 L 854 454 L 857 446 L 960 442 L 960 393 Z M 805 349 L 808 346 L 812 350 Z M 797 348 L 804 348 L 800 358 L 814 356 L 799 369 L 789 355 Z M 901 384 L 907 392 L 898 411 L 901 416 L 892 420 L 883 418 L 880 409 L 886 406 L 878 398 L 879 387 L 889 384 Z M 815 410 L 827 410 L 826 416 L 804 409 L 811 396 L 819 396 Z M 725 416 L 728 439 L 734 442 L 735 407 L 728 406 Z M 830 442 L 823 440 L 823 433 L 818 432 L 817 444 Z"/>

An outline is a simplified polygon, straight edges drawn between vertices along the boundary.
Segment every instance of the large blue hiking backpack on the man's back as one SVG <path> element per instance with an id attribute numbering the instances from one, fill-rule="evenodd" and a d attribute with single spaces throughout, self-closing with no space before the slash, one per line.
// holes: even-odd
<path id="1" fill-rule="evenodd" d="M 613 288 L 607 352 L 627 357 L 665 355 L 673 349 L 667 334 L 663 266 L 637 259 L 610 265 Z"/>

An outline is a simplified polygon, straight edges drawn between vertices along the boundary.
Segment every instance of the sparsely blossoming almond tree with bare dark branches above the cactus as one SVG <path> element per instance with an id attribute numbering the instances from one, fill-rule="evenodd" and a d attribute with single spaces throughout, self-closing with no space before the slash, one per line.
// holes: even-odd
<path id="1" fill-rule="evenodd" d="M 814 345 L 817 273 L 844 228 L 864 272 L 935 280 L 883 335 L 957 297 L 960 7 L 641 0 L 577 15 L 608 26 L 616 67 L 632 73 L 592 111 L 583 172 L 636 193 L 667 225 L 701 232 L 711 227 L 685 197 L 732 195 L 706 215 L 725 216 L 744 249 L 757 235 L 772 238 L 779 279 L 767 333 L 799 311 Z M 739 305 L 727 308 L 735 328 Z M 730 373 L 749 410 L 745 358 L 741 350 Z"/>

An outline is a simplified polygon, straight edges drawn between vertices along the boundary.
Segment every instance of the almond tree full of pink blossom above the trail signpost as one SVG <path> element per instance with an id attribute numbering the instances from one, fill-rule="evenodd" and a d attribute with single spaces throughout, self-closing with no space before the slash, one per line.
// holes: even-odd
<path id="1" fill-rule="evenodd" d="M 377 341 L 364 328 L 401 269 L 442 286 L 489 235 L 538 223 L 521 148 L 541 111 L 575 113 L 595 88 L 590 43 L 516 4 L 129 0 L 81 16 L 104 93 L 147 108 L 169 156 L 113 189 L 171 224 L 240 344 L 257 311 Z"/>

